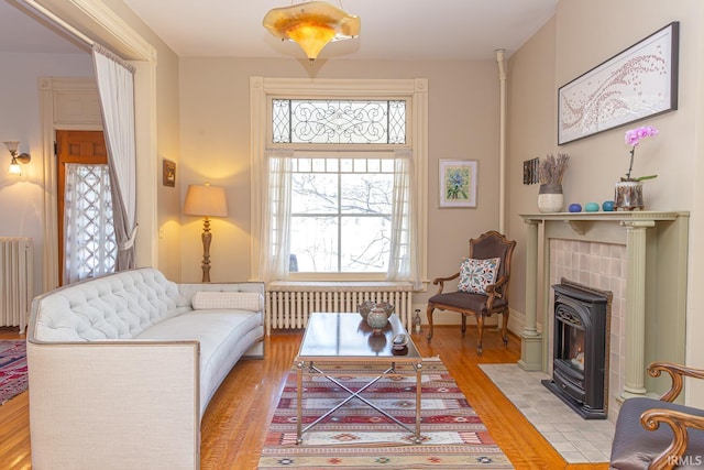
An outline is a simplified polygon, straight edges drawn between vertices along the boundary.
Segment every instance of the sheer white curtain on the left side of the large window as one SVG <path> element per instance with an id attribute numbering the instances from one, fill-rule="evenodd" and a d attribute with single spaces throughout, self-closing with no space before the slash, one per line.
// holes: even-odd
<path id="1" fill-rule="evenodd" d="M 261 281 L 282 281 L 290 267 L 292 151 L 267 151 L 260 242 Z"/>

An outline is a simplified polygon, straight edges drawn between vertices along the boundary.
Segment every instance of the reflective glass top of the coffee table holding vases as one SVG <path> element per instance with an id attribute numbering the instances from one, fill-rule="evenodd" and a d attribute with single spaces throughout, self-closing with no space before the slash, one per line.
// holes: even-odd
<path id="1" fill-rule="evenodd" d="M 308 318 L 298 359 L 393 359 L 417 362 L 420 354 L 410 335 L 406 354 L 396 356 L 392 352 L 392 341 L 399 334 L 408 335 L 396 314 L 388 318 L 388 324 L 380 332 L 374 332 L 358 313 L 314 313 Z"/>

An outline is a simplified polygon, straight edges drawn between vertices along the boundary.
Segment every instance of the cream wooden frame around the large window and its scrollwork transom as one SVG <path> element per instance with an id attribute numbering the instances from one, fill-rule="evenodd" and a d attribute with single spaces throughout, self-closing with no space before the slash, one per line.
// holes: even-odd
<path id="1" fill-rule="evenodd" d="M 262 240 L 262 204 L 265 195 L 257 190 L 260 182 L 266 171 L 266 149 L 285 146 L 295 149 L 296 144 L 272 144 L 270 140 L 272 125 L 272 98 L 310 98 L 310 99 L 407 99 L 409 107 L 406 110 L 407 132 L 406 144 L 394 145 L 398 149 L 410 149 L 414 155 L 415 187 L 418 193 L 418 260 L 421 263 L 420 275 L 427 278 L 427 240 L 428 240 L 428 80 L 426 78 L 411 79 L 305 79 L 305 78 L 250 78 L 250 122 L 251 122 L 251 245 L 250 259 L 252 260 L 251 273 L 253 280 L 261 280 L 260 240 Z M 362 145 L 362 144 L 360 144 Z M 364 150 L 388 150 L 389 145 L 363 144 Z M 301 149 L 310 149 L 310 145 L 300 145 Z M 326 144 L 315 144 L 316 149 L 323 150 Z M 339 150 L 339 145 L 329 145 L 330 150 Z M 298 277 L 298 276 L 297 276 Z M 355 277 L 355 280 L 359 278 Z M 314 278 L 307 278 L 312 281 Z M 337 273 L 316 274 L 317 281 L 353 281 L 350 275 Z"/>

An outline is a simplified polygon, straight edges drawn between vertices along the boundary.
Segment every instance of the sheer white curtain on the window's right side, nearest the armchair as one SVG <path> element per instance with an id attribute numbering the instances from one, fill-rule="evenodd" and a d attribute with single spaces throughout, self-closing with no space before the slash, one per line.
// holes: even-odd
<path id="1" fill-rule="evenodd" d="M 394 151 L 394 207 L 387 281 L 409 281 L 420 289 L 418 260 L 418 217 L 416 214 L 414 162 L 410 150 Z"/>

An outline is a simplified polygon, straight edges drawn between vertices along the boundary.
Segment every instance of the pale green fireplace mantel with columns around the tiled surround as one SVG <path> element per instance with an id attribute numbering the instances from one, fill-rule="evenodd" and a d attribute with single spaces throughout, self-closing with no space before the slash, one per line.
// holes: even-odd
<path id="1" fill-rule="evenodd" d="M 651 392 L 646 360 L 684 360 L 686 311 L 686 211 L 557 212 L 520 216 L 526 237 L 526 323 L 521 359 L 526 370 L 548 372 L 550 240 L 626 247 L 625 385 L 620 397 Z M 544 329 L 544 328 L 543 328 Z"/>

